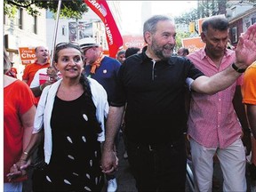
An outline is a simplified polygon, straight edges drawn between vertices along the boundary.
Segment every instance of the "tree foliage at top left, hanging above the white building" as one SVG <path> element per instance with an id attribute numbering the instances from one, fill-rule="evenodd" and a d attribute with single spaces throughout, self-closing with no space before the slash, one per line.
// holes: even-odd
<path id="1" fill-rule="evenodd" d="M 4 14 L 13 18 L 18 8 L 26 9 L 31 15 L 39 15 L 38 9 L 57 12 L 58 4 L 58 0 L 4 0 Z M 61 1 L 60 17 L 81 19 L 84 12 L 88 12 L 88 7 L 83 0 Z"/>

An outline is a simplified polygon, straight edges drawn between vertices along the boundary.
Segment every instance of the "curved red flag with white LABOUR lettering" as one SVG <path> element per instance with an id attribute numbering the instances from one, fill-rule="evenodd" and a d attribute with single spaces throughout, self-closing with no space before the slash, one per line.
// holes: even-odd
<path id="1" fill-rule="evenodd" d="M 84 0 L 84 3 L 87 4 L 105 24 L 109 57 L 116 58 L 116 53 L 119 48 L 123 46 L 123 38 L 116 26 L 116 22 L 108 8 L 106 0 Z"/>

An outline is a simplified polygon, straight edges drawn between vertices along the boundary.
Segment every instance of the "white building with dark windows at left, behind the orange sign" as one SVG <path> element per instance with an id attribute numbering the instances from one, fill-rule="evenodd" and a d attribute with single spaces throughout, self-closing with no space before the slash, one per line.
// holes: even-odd
<path id="1" fill-rule="evenodd" d="M 39 16 L 31 16 L 25 9 L 19 8 L 14 18 L 4 15 L 4 48 L 14 62 L 21 79 L 24 65 L 21 64 L 19 47 L 46 46 L 45 10 L 39 10 Z"/>

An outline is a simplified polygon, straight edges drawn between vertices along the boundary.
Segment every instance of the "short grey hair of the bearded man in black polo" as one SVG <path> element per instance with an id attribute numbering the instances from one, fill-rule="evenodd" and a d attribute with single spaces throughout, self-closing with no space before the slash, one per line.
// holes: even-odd
<path id="1" fill-rule="evenodd" d="M 149 18 L 148 20 L 146 20 L 144 22 L 144 26 L 143 26 L 143 36 L 144 36 L 144 41 L 147 43 L 146 39 L 145 39 L 145 34 L 146 32 L 150 32 L 151 34 L 156 33 L 156 24 L 158 21 L 164 21 L 164 20 L 171 20 L 171 18 L 164 16 L 164 15 L 155 15 L 151 18 Z"/>

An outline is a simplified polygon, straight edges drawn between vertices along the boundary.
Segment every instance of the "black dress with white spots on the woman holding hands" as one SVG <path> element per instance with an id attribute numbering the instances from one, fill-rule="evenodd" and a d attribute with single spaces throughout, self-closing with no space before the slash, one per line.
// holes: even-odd
<path id="1" fill-rule="evenodd" d="M 88 116 L 84 94 L 76 100 L 60 100 L 52 109 L 52 156 L 44 170 L 44 191 L 100 191 L 100 142 Z"/>

